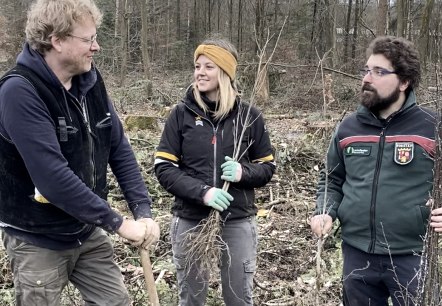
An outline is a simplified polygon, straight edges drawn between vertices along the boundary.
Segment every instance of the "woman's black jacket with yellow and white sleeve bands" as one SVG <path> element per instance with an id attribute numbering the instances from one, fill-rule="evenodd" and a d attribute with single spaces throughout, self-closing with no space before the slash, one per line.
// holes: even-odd
<path id="1" fill-rule="evenodd" d="M 225 156 L 233 156 L 234 132 L 238 125 L 239 138 L 247 109 L 238 98 L 227 117 L 215 122 L 199 108 L 190 89 L 172 110 L 156 152 L 155 173 L 160 184 L 175 196 L 174 215 L 193 220 L 209 215 L 211 208 L 204 205 L 203 196 L 212 186 L 222 188 L 221 164 Z M 224 220 L 254 215 L 254 188 L 267 184 L 275 171 L 264 119 L 254 107 L 249 122 L 241 142 L 242 178 L 230 183 L 228 192 L 234 200 L 221 214 Z"/>

